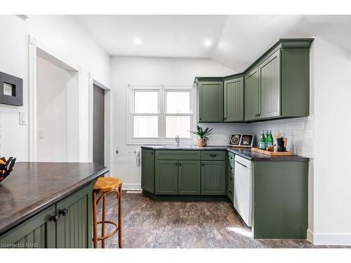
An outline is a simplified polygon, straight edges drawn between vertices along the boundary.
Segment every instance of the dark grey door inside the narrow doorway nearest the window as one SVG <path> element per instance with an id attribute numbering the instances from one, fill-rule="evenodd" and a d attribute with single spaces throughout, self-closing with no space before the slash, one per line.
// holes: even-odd
<path id="1" fill-rule="evenodd" d="M 104 165 L 105 90 L 93 87 L 93 162 Z"/>

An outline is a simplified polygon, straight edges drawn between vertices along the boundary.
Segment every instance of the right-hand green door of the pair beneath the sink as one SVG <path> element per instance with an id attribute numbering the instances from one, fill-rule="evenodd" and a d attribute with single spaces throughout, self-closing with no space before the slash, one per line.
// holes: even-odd
<path id="1" fill-rule="evenodd" d="M 199 195 L 200 161 L 179 161 L 178 194 Z"/>

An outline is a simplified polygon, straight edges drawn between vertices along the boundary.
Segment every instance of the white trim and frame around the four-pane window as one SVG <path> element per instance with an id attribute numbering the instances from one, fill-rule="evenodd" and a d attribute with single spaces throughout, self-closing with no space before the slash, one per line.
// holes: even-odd
<path id="1" fill-rule="evenodd" d="M 159 92 L 158 100 L 159 100 L 159 109 L 158 113 L 154 114 L 134 114 L 133 113 L 133 93 L 135 91 L 145 91 L 145 90 L 154 90 Z M 190 114 L 166 114 L 166 105 L 165 105 L 165 91 L 190 91 Z M 143 86 L 143 85 L 128 85 L 128 92 L 127 92 L 127 117 L 126 117 L 126 127 L 127 127 L 127 137 L 126 137 L 126 144 L 131 145 L 159 145 L 159 144 L 176 144 L 174 138 L 166 138 L 166 116 L 189 116 L 190 115 L 190 128 L 191 130 L 196 130 L 197 126 L 197 110 L 196 110 L 196 90 L 193 86 L 184 86 L 184 85 L 153 85 L 153 86 Z M 151 115 L 151 116 L 158 116 L 159 117 L 159 137 L 157 138 L 133 138 L 133 115 Z M 195 136 L 193 134 L 190 135 L 190 138 L 180 138 L 180 144 L 182 145 L 192 145 L 195 144 Z"/>

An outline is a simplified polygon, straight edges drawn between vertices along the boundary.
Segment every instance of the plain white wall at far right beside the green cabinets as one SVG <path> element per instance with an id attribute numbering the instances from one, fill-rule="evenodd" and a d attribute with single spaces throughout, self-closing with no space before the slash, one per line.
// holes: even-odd
<path id="1" fill-rule="evenodd" d="M 314 40 L 314 243 L 351 245 L 350 53 Z"/>

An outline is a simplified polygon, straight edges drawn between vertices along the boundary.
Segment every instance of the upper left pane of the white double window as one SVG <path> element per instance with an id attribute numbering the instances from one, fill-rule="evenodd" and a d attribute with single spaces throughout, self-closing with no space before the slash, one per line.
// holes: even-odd
<path id="1" fill-rule="evenodd" d="M 157 113 L 157 91 L 135 91 L 135 113 Z"/>

